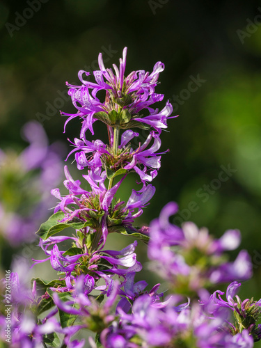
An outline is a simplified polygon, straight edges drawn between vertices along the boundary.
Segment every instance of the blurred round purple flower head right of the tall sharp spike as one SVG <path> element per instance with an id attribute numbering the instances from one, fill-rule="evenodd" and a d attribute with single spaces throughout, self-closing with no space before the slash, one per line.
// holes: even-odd
<path id="1" fill-rule="evenodd" d="M 150 225 L 148 256 L 152 269 L 169 280 L 175 291 L 191 294 L 202 287 L 251 277 L 251 260 L 241 251 L 235 262 L 227 262 L 223 251 L 237 248 L 238 230 L 228 230 L 220 239 L 214 239 L 206 228 L 198 229 L 187 222 L 182 229 L 169 222 L 177 212 L 175 203 L 168 203 Z"/>

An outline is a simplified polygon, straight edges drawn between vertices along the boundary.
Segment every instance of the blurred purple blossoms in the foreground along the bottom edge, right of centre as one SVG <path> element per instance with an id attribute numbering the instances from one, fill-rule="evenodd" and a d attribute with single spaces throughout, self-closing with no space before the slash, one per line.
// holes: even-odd
<path id="1" fill-rule="evenodd" d="M 174 296 L 162 308 L 155 307 L 148 294 L 139 296 L 134 300 L 132 313 L 118 310 L 120 321 L 102 332 L 102 344 L 117 347 L 119 342 L 124 347 L 134 347 L 132 342 L 136 342 L 139 347 L 180 347 L 189 342 L 191 347 L 200 348 L 253 347 L 249 332 L 231 333 L 221 313 L 210 318 L 198 303 L 176 306 L 178 301 Z"/>

